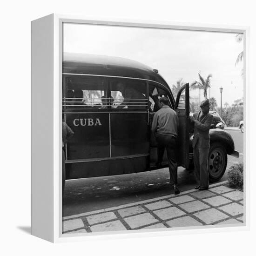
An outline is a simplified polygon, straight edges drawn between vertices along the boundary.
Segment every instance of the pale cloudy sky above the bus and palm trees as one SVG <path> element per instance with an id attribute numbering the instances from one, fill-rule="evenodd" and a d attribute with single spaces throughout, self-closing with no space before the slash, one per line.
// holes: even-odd
<path id="1" fill-rule="evenodd" d="M 243 41 L 234 33 L 65 23 L 63 52 L 118 56 L 159 70 L 170 88 L 176 81 L 199 81 L 212 74 L 207 97 L 220 107 L 243 97 L 243 63 L 235 66 Z M 199 90 L 190 90 L 199 99 Z M 201 101 L 203 92 L 201 90 Z"/>

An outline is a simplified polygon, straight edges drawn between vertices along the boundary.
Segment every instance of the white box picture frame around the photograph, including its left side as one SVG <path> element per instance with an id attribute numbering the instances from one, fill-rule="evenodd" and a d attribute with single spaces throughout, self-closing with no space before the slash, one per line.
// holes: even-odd
<path id="1" fill-rule="evenodd" d="M 249 136 L 249 27 L 206 25 L 188 23 L 154 22 L 148 20 L 99 20 L 87 19 L 83 16 L 50 14 L 31 23 L 31 97 L 32 97 L 32 171 L 31 171 L 31 233 L 47 241 L 67 242 L 112 238 L 129 235 L 154 236 L 157 231 L 121 231 L 109 234 L 83 233 L 62 234 L 62 185 L 61 185 L 61 102 L 62 102 L 62 26 L 63 23 L 101 24 L 127 27 L 152 27 L 180 30 L 197 30 L 213 32 L 233 32 L 244 34 L 244 98 L 246 144 Z M 244 155 L 248 145 L 244 143 Z M 244 158 L 244 166 L 248 159 Z M 246 230 L 249 228 L 248 180 L 249 172 L 245 172 L 245 203 L 243 227 L 202 227 L 202 229 L 163 230 L 161 235 L 175 235 L 192 232 L 211 232 L 212 229 Z M 158 232 L 159 234 L 159 232 Z"/>

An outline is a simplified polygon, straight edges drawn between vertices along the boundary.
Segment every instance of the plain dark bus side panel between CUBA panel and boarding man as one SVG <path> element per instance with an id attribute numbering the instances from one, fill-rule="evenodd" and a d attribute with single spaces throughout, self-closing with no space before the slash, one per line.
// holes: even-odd
<path id="1" fill-rule="evenodd" d="M 148 113 L 111 114 L 111 155 L 149 154 Z"/>

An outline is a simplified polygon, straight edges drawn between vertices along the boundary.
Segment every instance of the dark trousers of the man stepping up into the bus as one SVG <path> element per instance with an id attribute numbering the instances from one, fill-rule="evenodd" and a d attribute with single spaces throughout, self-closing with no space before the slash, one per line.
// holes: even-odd
<path id="1" fill-rule="evenodd" d="M 162 162 L 164 149 L 167 151 L 169 173 L 170 173 L 170 183 L 177 185 L 177 169 L 178 163 L 176 161 L 176 138 L 167 135 L 155 135 L 157 142 L 157 162 L 160 164 Z"/>

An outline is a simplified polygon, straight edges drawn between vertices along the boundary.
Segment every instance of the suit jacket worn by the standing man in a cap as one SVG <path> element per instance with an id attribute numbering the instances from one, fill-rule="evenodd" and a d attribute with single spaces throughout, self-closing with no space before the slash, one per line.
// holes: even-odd
<path id="1" fill-rule="evenodd" d="M 196 143 L 198 143 L 199 148 L 209 148 L 210 147 L 210 135 L 209 129 L 213 121 L 213 115 L 206 114 L 199 118 L 201 111 L 194 114 L 195 117 L 195 129 L 193 138 L 193 148 L 195 148 Z"/>

